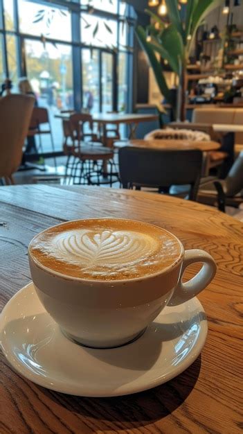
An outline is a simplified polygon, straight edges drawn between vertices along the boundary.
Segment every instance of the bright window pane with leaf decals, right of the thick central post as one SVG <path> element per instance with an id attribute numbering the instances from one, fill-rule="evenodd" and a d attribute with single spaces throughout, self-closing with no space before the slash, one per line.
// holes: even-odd
<path id="1" fill-rule="evenodd" d="M 112 47 L 117 46 L 117 22 L 95 15 L 81 15 L 81 40 L 83 44 Z"/>

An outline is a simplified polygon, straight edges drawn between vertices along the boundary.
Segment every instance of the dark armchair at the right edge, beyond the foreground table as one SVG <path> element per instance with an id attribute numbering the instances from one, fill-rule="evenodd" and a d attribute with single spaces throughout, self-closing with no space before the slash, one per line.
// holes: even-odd
<path id="1" fill-rule="evenodd" d="M 223 212 L 225 212 L 226 205 L 238 207 L 243 202 L 243 151 L 235 160 L 226 179 L 210 182 L 208 186 L 215 186 L 216 191 L 200 190 L 200 200 L 217 198 L 217 207 Z"/>

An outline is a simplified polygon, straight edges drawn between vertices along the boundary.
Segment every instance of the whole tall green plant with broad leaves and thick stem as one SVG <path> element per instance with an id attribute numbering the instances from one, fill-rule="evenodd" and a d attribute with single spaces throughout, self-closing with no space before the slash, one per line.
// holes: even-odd
<path id="1" fill-rule="evenodd" d="M 169 23 L 150 10 L 152 20 L 147 28 L 137 26 L 136 36 L 154 71 L 156 83 L 172 109 L 176 112 L 178 121 L 186 119 L 186 67 L 197 29 L 208 13 L 217 8 L 222 0 L 188 0 L 179 10 L 178 0 L 165 0 Z M 176 102 L 165 80 L 165 60 L 179 78 Z"/>

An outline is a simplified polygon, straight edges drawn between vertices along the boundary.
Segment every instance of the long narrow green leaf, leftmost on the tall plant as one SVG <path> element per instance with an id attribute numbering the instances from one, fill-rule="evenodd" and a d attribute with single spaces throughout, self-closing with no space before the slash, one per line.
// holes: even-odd
<path id="1" fill-rule="evenodd" d="M 150 44 L 146 41 L 146 33 L 142 26 L 138 26 L 135 29 L 136 37 L 143 48 L 143 51 L 147 54 L 147 58 L 150 62 L 150 65 L 154 71 L 154 77 L 156 79 L 156 83 L 159 86 L 159 90 L 163 96 L 168 100 L 169 103 L 172 103 L 172 98 L 170 94 L 170 89 L 165 81 L 165 77 L 163 75 L 163 69 L 161 67 L 161 63 L 156 58 L 154 50 L 150 46 Z"/>

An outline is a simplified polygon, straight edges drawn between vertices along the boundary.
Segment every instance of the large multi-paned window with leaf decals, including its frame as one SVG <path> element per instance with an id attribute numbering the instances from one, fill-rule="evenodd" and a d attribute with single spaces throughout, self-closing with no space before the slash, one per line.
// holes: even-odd
<path id="1" fill-rule="evenodd" d="M 13 92 L 27 76 L 52 123 L 60 109 L 129 110 L 132 6 L 122 0 L 0 0 L 0 6 L 0 80 L 8 73 Z"/>

